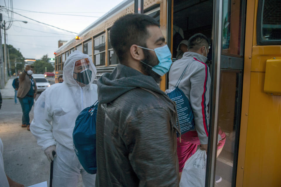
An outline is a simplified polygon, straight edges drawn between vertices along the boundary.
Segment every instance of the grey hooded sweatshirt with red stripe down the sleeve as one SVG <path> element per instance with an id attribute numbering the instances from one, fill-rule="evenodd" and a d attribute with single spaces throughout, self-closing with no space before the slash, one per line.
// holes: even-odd
<path id="1" fill-rule="evenodd" d="M 175 61 L 169 71 L 169 89 L 174 87 L 188 65 L 181 82 L 181 89 L 189 99 L 194 114 L 195 129 L 201 144 L 208 144 L 208 103 L 210 92 L 210 72 L 205 64 L 207 58 L 193 52 L 185 52 Z"/>

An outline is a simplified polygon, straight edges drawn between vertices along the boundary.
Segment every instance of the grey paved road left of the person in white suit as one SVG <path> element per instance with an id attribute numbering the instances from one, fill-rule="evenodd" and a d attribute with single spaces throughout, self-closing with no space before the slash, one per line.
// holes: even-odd
<path id="1" fill-rule="evenodd" d="M 50 162 L 32 133 L 21 127 L 22 109 L 14 103 L 12 82 L 10 79 L 5 89 L 1 89 L 4 99 L 0 110 L 0 138 L 4 145 L 4 167 L 11 179 L 27 187 L 49 180 Z M 37 98 L 39 96 L 40 93 Z M 33 107 L 30 122 L 32 119 Z M 81 177 L 78 187 L 82 187 Z"/>

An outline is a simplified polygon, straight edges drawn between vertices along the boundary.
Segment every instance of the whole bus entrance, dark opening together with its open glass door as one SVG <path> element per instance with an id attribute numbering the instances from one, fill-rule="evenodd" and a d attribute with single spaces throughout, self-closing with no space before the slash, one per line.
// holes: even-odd
<path id="1" fill-rule="evenodd" d="M 202 33 L 211 41 L 206 62 L 212 78 L 206 186 L 235 186 L 244 67 L 245 1 L 171 2 L 173 60 L 181 58 L 179 44 L 192 35 Z M 217 151 L 217 142 L 222 137 L 225 145 Z"/>

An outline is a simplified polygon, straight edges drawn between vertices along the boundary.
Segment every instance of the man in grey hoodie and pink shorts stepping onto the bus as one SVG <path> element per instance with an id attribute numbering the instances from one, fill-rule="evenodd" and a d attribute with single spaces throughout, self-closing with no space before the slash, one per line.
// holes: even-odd
<path id="1" fill-rule="evenodd" d="M 186 69 L 179 84 L 185 96 L 189 99 L 194 114 L 195 128 L 181 135 L 178 140 L 177 154 L 179 158 L 179 172 L 184 163 L 196 152 L 199 145 L 201 150 L 207 151 L 208 145 L 208 103 L 210 95 L 210 72 L 205 64 L 209 52 L 210 41 L 201 34 L 195 34 L 187 42 L 188 52 L 181 59 L 175 61 L 169 71 L 169 89 L 177 84 L 181 74 Z M 217 155 L 225 143 L 225 133 L 219 128 L 219 143 Z"/>

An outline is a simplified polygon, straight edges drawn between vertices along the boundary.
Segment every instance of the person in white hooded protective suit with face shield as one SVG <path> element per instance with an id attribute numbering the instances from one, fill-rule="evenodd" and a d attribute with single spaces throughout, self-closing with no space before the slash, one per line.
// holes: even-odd
<path id="1" fill-rule="evenodd" d="M 72 133 L 79 113 L 97 101 L 96 73 L 91 58 L 74 51 L 64 63 L 64 82 L 48 87 L 35 103 L 30 131 L 49 161 L 54 160 L 54 187 L 77 186 L 80 174 L 83 186 L 95 186 L 96 174 L 88 174 L 74 152 Z"/>

